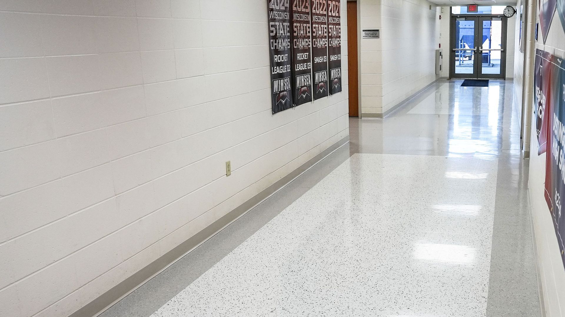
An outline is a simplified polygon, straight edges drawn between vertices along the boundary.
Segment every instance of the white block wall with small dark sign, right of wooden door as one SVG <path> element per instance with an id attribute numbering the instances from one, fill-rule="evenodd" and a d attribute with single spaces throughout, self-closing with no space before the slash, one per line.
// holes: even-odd
<path id="1" fill-rule="evenodd" d="M 381 29 L 361 39 L 362 113 L 382 114 L 439 78 L 439 14 L 425 0 L 360 0 L 360 28 Z"/>

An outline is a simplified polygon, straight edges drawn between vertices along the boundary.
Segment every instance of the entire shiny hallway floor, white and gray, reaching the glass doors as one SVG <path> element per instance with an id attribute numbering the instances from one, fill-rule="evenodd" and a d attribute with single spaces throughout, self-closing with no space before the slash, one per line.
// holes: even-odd
<path id="1" fill-rule="evenodd" d="M 439 81 L 101 316 L 539 316 L 512 82 Z"/>

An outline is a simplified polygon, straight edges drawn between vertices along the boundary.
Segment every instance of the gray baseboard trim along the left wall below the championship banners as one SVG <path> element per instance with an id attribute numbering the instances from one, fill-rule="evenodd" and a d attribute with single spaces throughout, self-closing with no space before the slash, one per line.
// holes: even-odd
<path id="1" fill-rule="evenodd" d="M 249 210 L 260 204 L 260 202 L 272 196 L 277 191 L 281 190 L 281 188 L 285 187 L 295 178 L 305 173 L 305 171 L 312 168 L 312 166 L 318 164 L 318 162 L 323 160 L 326 156 L 330 155 L 338 148 L 344 146 L 347 143 L 349 143 L 349 135 L 332 144 L 332 146 L 328 147 L 315 157 L 311 158 L 305 164 L 302 164 L 285 177 L 277 180 L 277 182 L 275 182 L 271 186 L 259 192 L 257 195 L 251 197 L 251 199 L 245 201 L 236 209 L 233 209 L 231 212 L 225 214 L 223 217 L 210 224 L 210 226 L 199 231 L 188 240 L 177 245 L 166 254 L 163 254 L 163 256 L 161 256 L 160 258 L 149 263 L 149 265 L 129 276 L 129 278 L 121 281 L 115 287 L 107 290 L 107 292 L 103 293 L 101 296 L 98 296 L 93 301 L 81 307 L 79 310 L 73 312 L 71 315 L 69 315 L 69 317 L 92 317 L 101 314 L 116 302 L 120 301 L 125 296 L 128 296 L 129 293 L 136 290 L 146 281 L 150 280 L 155 275 L 165 270 L 167 267 L 172 265 L 172 263 L 175 263 L 178 259 L 184 257 L 190 251 L 197 248 L 197 246 L 201 245 L 206 240 L 210 239 L 212 236 L 223 230 L 223 228 L 236 221 L 237 218 L 241 217 Z"/>

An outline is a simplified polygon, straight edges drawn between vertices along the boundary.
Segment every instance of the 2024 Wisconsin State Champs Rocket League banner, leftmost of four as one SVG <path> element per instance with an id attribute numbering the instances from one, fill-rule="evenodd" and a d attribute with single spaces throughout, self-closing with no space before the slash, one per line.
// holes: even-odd
<path id="1" fill-rule="evenodd" d="M 271 102 L 273 113 L 277 113 L 293 105 L 290 79 L 290 6 L 289 0 L 269 0 L 267 3 L 271 48 Z"/>

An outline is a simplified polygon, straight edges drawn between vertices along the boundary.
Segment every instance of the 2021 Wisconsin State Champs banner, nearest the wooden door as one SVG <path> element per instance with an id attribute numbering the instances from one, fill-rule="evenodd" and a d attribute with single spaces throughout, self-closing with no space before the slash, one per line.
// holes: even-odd
<path id="1" fill-rule="evenodd" d="M 341 91 L 341 17 L 340 0 L 328 1 L 329 94 Z"/>

